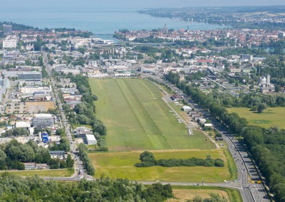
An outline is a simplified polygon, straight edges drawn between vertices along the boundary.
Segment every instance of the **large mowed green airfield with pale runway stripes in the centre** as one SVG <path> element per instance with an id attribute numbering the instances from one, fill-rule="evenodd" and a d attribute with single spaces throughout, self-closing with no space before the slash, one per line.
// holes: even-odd
<path id="1" fill-rule="evenodd" d="M 98 95 L 96 114 L 107 127 L 109 151 L 215 148 L 201 132 L 187 135 L 162 92 L 147 80 L 90 79 L 90 86 Z"/>

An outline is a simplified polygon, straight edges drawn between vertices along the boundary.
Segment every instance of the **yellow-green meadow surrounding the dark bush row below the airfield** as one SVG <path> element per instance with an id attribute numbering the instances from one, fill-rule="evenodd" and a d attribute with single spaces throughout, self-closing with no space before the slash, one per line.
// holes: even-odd
<path id="1" fill-rule="evenodd" d="M 209 150 L 154 150 L 151 151 L 155 159 L 188 159 L 192 157 L 205 159 L 211 154 L 213 159 L 224 159 L 225 166 L 204 167 L 204 166 L 179 166 L 179 167 L 162 167 L 152 166 L 147 168 L 137 168 L 135 163 L 140 162 L 142 151 L 127 152 L 107 152 L 107 153 L 90 153 L 89 156 L 96 168 L 95 177 L 101 175 L 109 176 L 112 179 L 123 178 L 138 181 L 192 181 L 202 182 L 222 182 L 232 180 L 229 174 L 226 157 L 222 149 Z"/>

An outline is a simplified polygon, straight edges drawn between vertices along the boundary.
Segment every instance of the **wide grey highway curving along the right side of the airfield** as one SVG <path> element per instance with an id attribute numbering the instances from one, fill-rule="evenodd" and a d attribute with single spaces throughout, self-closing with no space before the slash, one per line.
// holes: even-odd
<path id="1" fill-rule="evenodd" d="M 197 103 L 190 100 L 190 97 L 187 97 L 187 95 L 185 95 L 182 90 L 175 87 L 175 85 L 172 85 L 171 83 L 155 75 L 149 75 L 145 73 L 141 73 L 141 75 L 146 78 L 152 78 L 158 83 L 167 85 L 172 89 L 173 92 L 184 97 L 192 109 L 200 112 L 206 119 L 211 120 L 214 128 L 217 129 L 220 134 L 222 134 L 224 142 L 227 143 L 229 151 L 232 154 L 235 163 L 237 164 L 238 179 L 236 182 L 239 183 L 240 187 L 242 188 L 240 191 L 242 193 L 243 201 L 269 201 L 268 197 L 266 196 L 264 187 L 261 184 L 249 183 L 249 181 L 251 181 L 250 179 L 252 179 L 252 181 L 259 181 L 261 179 L 257 173 L 257 169 L 254 167 L 252 159 L 249 158 L 249 154 L 247 154 L 244 146 L 237 139 L 234 139 L 234 134 L 232 134 L 226 127 L 224 127 L 224 125 L 218 122 L 217 119 L 211 117 L 209 113 L 197 105 Z M 225 186 L 231 187 L 229 184 L 226 184 Z"/>

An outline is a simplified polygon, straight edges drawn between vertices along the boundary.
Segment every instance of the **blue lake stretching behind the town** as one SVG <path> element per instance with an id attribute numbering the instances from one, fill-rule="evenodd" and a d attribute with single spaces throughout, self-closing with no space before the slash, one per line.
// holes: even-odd
<path id="1" fill-rule="evenodd" d="M 13 21 L 38 28 L 76 28 L 92 31 L 95 34 L 113 34 L 122 28 L 129 30 L 151 30 L 163 28 L 189 28 L 205 30 L 224 28 L 207 23 L 187 23 L 178 19 L 155 18 L 133 11 L 100 11 L 92 9 L 2 9 L 0 21 Z"/>

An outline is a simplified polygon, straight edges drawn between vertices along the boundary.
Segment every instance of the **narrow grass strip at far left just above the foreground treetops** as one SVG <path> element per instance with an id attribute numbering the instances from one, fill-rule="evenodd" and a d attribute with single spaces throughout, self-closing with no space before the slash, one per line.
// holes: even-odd
<path id="1" fill-rule="evenodd" d="M 5 171 L 1 171 L 5 172 Z M 19 176 L 52 176 L 52 177 L 69 177 L 74 173 L 71 169 L 56 169 L 56 170 L 26 170 L 26 171 L 9 171 L 11 174 L 16 174 Z"/>

